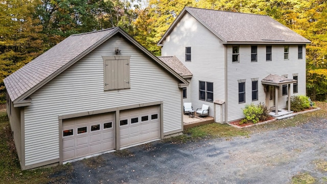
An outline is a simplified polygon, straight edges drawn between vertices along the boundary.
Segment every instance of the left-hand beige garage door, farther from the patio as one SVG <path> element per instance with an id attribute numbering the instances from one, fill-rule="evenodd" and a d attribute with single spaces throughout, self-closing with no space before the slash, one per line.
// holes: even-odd
<path id="1" fill-rule="evenodd" d="M 114 113 L 62 121 L 63 161 L 114 149 Z"/>

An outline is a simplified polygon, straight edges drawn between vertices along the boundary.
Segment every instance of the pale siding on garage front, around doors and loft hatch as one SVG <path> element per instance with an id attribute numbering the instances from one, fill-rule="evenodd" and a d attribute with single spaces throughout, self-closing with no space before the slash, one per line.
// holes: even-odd
<path id="1" fill-rule="evenodd" d="M 102 56 L 119 47 L 130 58 L 130 89 L 104 91 Z M 163 102 L 164 133 L 182 129 L 178 81 L 123 38 L 115 36 L 37 90 L 25 108 L 25 165 L 59 158 L 59 121 L 65 114 Z"/>

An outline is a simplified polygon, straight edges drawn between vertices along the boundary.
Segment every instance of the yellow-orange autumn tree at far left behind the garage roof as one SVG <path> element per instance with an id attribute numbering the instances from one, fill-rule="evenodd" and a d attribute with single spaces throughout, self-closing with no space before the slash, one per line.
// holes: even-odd
<path id="1" fill-rule="evenodd" d="M 35 15 L 37 1 L 0 2 L 0 102 L 5 102 L 3 79 L 43 52 L 42 26 Z"/>

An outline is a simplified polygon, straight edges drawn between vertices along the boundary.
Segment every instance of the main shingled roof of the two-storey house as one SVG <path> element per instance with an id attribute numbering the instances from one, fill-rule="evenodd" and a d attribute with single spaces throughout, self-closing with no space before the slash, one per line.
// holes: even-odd
<path id="1" fill-rule="evenodd" d="M 267 15 L 185 7 L 159 40 L 161 45 L 185 13 L 190 13 L 225 43 L 310 43 Z"/>

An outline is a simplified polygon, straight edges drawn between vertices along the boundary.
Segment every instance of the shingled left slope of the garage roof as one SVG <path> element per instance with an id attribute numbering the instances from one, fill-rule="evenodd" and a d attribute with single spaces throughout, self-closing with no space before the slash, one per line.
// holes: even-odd
<path id="1" fill-rule="evenodd" d="M 116 28 L 71 35 L 4 79 L 12 101 L 54 74 Z"/>

